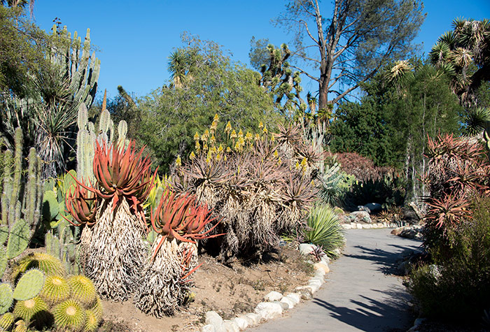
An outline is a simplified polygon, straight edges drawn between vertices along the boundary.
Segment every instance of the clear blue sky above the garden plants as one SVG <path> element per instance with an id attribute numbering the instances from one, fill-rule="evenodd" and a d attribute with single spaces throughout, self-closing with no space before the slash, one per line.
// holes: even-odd
<path id="1" fill-rule="evenodd" d="M 329 6 L 330 1 L 323 1 Z M 181 45 L 183 31 L 215 41 L 229 50 L 233 59 L 249 64 L 250 39 L 269 38 L 280 45 L 291 36 L 270 20 L 281 13 L 286 1 L 62 1 L 37 0 L 34 4 L 36 24 L 50 30 L 59 17 L 73 33 L 82 37 L 90 28 L 92 45 L 97 45 L 101 60 L 98 95 L 107 89 L 109 97 L 123 85 L 138 96 L 148 94 L 167 82 L 167 57 Z M 423 43 L 426 54 L 437 38 L 451 29 L 455 17 L 481 20 L 490 18 L 490 1 L 424 1 L 426 21 L 416 43 Z M 328 15 L 325 10 L 323 15 Z M 304 81 L 305 82 L 305 81 Z M 316 85 L 305 83 L 304 89 L 316 91 Z"/>

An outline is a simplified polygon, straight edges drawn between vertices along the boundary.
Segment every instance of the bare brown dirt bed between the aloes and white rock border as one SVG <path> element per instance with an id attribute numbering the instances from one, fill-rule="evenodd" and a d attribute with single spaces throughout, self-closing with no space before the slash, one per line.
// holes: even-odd
<path id="1" fill-rule="evenodd" d="M 287 293 L 307 284 L 313 267 L 292 245 L 278 247 L 265 256 L 262 262 L 244 264 L 236 261 L 224 266 L 213 257 L 203 255 L 202 266 L 197 270 L 192 287 L 195 298 L 174 317 L 157 319 L 146 316 L 132 301 L 113 303 L 103 301 L 104 332 L 160 332 L 199 331 L 204 315 L 214 310 L 223 319 L 232 319 L 242 313 L 253 312 L 269 291 Z"/>

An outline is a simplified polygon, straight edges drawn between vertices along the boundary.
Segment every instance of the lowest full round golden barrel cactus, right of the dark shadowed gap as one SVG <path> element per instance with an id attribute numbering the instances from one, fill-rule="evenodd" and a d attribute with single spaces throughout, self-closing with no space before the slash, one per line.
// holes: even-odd
<path id="1" fill-rule="evenodd" d="M 70 299 L 59 303 L 52 314 L 60 331 L 82 331 L 85 326 L 85 310 L 77 301 Z"/>

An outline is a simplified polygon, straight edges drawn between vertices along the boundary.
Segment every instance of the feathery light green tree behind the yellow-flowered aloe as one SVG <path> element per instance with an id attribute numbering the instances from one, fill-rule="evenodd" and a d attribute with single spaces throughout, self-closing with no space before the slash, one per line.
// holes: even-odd
<path id="1" fill-rule="evenodd" d="M 163 171 L 169 171 L 178 154 L 190 153 L 196 131 L 202 134 L 208 129 L 215 114 L 220 122 L 229 121 L 245 132 L 258 130 L 260 122 L 272 128 L 281 121 L 271 97 L 258 85 L 260 74 L 232 62 L 212 41 L 184 35 L 183 45 L 176 51 L 186 55 L 179 71 L 181 84 L 171 80 L 170 86 L 137 102 L 141 114 L 138 136 Z"/>

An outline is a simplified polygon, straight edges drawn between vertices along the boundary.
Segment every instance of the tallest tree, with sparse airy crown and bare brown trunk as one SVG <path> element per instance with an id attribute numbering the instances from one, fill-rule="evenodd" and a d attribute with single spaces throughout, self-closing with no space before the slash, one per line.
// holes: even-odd
<path id="1" fill-rule="evenodd" d="M 339 103 L 387 62 L 406 57 L 424 19 L 413 0 L 335 0 L 329 19 L 322 10 L 318 0 L 292 0 L 276 18 L 295 35 L 292 55 L 299 61 L 293 68 L 318 82 L 319 110 Z"/>

